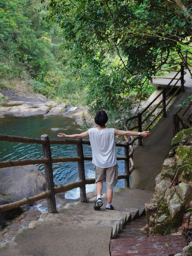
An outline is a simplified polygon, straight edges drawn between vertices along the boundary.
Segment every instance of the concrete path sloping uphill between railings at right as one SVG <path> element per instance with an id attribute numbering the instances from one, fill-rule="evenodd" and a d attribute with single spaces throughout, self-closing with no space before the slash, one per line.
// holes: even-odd
<path id="1" fill-rule="evenodd" d="M 173 77 L 174 72 L 169 74 L 169 77 L 171 75 Z M 180 92 L 177 99 L 167 110 L 167 117 L 162 117 L 158 125 L 152 129 L 151 135 L 143 140 L 143 145 L 134 149 L 135 169 L 131 174 L 131 188 L 155 191 L 155 177 L 161 172 L 164 158 L 172 149 L 173 113 L 177 112 L 178 105 L 182 104 L 191 94 L 192 80 L 189 72 L 184 75 L 184 80 L 186 80 L 184 92 Z M 170 80 L 158 79 L 158 84 L 160 82 L 168 84 Z"/>

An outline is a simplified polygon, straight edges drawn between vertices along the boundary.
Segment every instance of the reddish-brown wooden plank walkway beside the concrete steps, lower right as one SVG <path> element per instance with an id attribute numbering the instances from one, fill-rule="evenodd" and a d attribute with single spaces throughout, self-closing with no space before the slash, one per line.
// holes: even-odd
<path id="1" fill-rule="evenodd" d="M 187 245 L 184 235 L 146 237 L 141 231 L 145 225 L 146 215 L 125 225 L 110 241 L 111 256 L 172 256 Z"/>

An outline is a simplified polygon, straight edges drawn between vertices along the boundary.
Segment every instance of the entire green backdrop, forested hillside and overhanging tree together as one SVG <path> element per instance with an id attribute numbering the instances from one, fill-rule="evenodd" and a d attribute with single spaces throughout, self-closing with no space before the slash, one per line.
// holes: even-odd
<path id="1" fill-rule="evenodd" d="M 0 0 L 1 87 L 104 109 L 122 126 L 154 91 L 155 59 L 190 49 L 191 20 L 189 0 Z"/>

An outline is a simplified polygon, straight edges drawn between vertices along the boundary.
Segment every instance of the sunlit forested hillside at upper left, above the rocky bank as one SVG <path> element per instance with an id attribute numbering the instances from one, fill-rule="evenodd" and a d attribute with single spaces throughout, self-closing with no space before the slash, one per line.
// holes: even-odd
<path id="1" fill-rule="evenodd" d="M 0 0 L 0 86 L 83 104 L 73 69 L 61 64 L 70 55 L 63 51 L 58 58 L 59 28 L 42 19 L 40 6 L 39 0 Z"/>

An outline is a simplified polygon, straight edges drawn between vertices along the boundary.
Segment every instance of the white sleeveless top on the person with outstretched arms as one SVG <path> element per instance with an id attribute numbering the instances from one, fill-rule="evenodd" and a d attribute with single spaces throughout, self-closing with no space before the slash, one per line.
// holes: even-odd
<path id="1" fill-rule="evenodd" d="M 116 165 L 115 128 L 99 130 L 90 128 L 88 130 L 92 148 L 92 163 L 100 168 L 108 168 Z"/>

